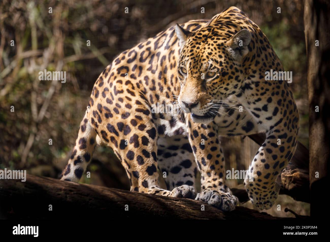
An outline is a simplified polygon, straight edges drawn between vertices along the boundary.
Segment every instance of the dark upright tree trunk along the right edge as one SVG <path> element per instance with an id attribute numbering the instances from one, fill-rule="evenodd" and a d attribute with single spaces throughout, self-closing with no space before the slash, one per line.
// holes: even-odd
<path id="1" fill-rule="evenodd" d="M 304 24 L 308 60 L 311 216 L 325 216 L 330 150 L 330 3 L 305 0 Z M 316 42 L 315 42 L 316 41 Z M 317 110 L 318 108 L 318 110 Z"/>

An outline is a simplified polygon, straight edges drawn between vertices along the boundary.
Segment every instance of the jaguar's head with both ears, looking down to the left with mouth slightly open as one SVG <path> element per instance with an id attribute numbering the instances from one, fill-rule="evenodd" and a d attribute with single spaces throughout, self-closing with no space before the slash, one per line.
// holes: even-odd
<path id="1" fill-rule="evenodd" d="M 234 34 L 214 26 L 192 33 L 178 24 L 175 31 L 180 46 L 179 105 L 194 122 L 207 124 L 226 99 L 239 92 L 251 34 L 247 29 Z"/>

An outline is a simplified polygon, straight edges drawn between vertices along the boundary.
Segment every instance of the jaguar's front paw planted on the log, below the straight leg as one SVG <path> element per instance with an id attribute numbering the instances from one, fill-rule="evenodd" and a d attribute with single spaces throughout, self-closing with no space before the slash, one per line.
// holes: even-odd
<path id="1" fill-rule="evenodd" d="M 234 210 L 235 205 L 238 203 L 237 197 L 232 195 L 231 192 L 219 192 L 209 188 L 199 193 L 196 200 L 207 202 L 208 204 L 225 212 Z"/>

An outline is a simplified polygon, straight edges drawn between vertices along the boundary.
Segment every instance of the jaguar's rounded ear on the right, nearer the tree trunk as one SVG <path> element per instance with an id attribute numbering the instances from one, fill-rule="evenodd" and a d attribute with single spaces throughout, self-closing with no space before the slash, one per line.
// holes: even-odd
<path id="1" fill-rule="evenodd" d="M 251 41 L 251 33 L 247 29 L 238 31 L 230 40 L 227 41 L 227 49 L 232 57 L 241 62 L 248 54 L 248 44 Z"/>

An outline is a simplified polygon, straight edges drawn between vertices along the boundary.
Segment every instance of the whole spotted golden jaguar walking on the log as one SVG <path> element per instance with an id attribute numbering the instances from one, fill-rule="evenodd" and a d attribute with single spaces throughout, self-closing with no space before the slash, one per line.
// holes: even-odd
<path id="1" fill-rule="evenodd" d="M 248 168 L 253 179 L 244 185 L 257 207 L 270 208 L 299 130 L 288 84 L 266 81 L 270 69 L 283 70 L 271 44 L 235 7 L 160 32 L 101 73 L 61 179 L 79 181 L 98 140 L 114 149 L 131 191 L 201 199 L 229 211 L 237 198 L 226 185 L 218 137 L 266 132 Z M 182 113 L 152 112 L 153 104 L 175 102 Z M 166 174 L 166 190 L 158 185 L 157 168 Z"/>

